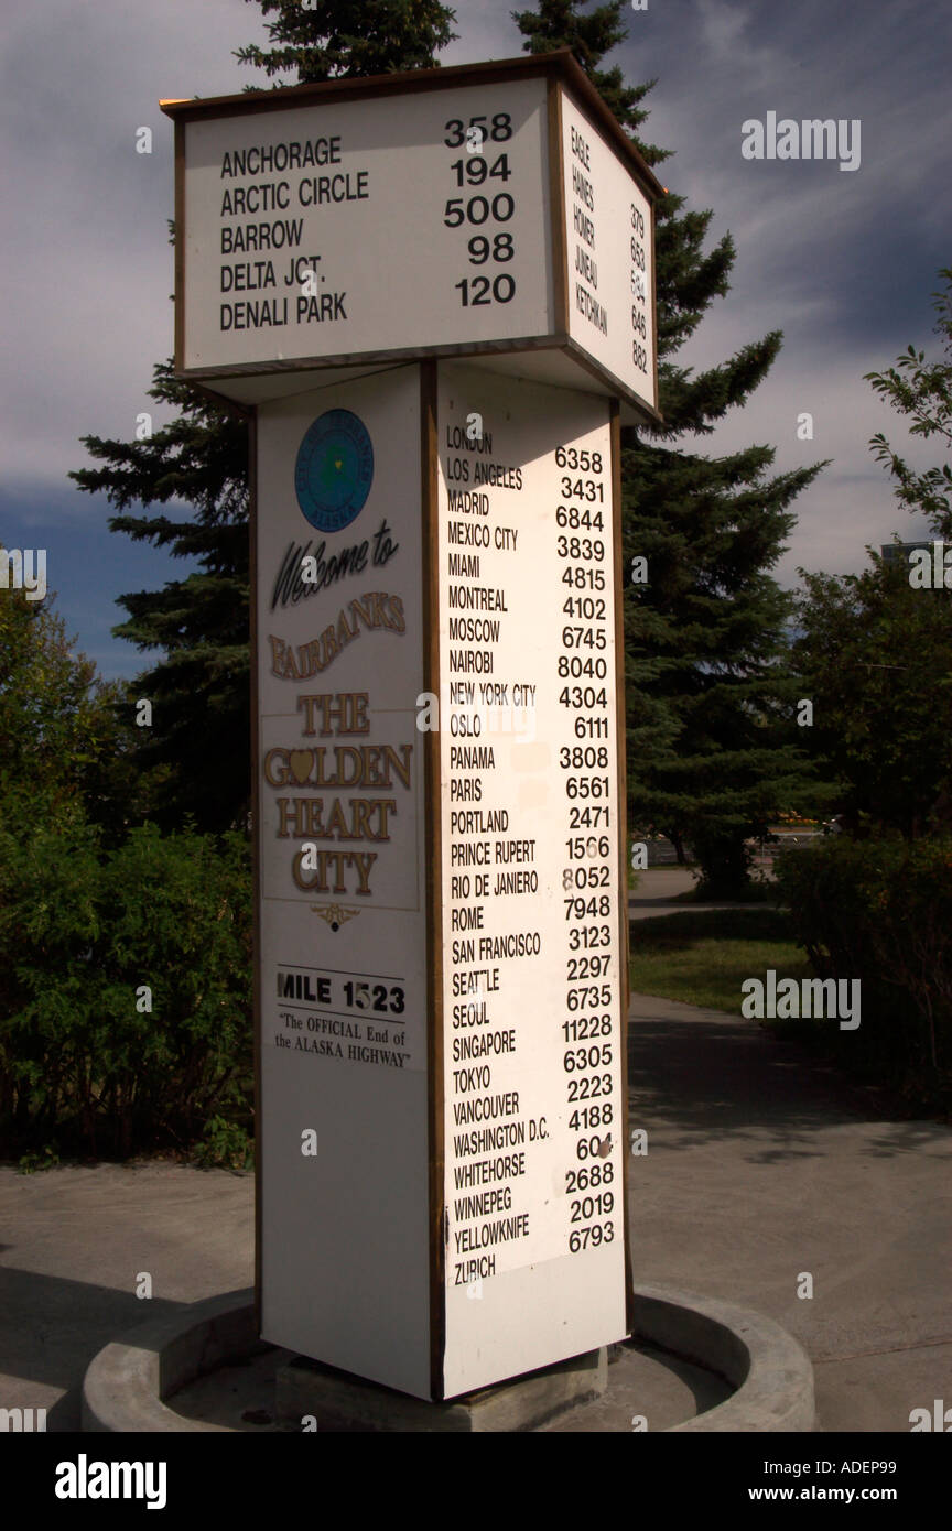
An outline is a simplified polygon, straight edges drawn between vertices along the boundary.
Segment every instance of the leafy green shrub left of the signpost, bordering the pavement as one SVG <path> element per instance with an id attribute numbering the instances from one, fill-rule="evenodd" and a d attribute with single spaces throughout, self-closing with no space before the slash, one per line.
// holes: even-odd
<path id="1" fill-rule="evenodd" d="M 2 1151 L 187 1148 L 251 1122 L 251 868 L 240 834 L 135 828 L 3 795 Z M 150 994 L 145 994 L 150 991 Z M 150 1006 L 150 1007 L 148 1007 Z"/>

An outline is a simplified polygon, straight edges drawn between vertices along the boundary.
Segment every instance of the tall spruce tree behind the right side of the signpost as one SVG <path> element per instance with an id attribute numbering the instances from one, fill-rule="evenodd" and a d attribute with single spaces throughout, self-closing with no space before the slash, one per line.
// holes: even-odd
<path id="1" fill-rule="evenodd" d="M 623 0 L 539 0 L 513 12 L 534 54 L 571 47 L 605 103 L 650 165 L 669 152 L 646 142 L 641 101 L 602 70 L 628 35 Z M 729 291 L 730 234 L 704 240 L 712 210 L 689 211 L 669 191 L 657 205 L 658 389 L 664 426 L 626 429 L 624 563 L 647 559 L 647 583 L 624 599 L 629 818 L 696 853 L 704 883 L 736 894 L 747 883 L 745 842 L 771 818 L 810 799 L 810 767 L 793 726 L 796 683 L 785 674 L 791 602 L 770 570 L 794 516 L 788 505 L 823 464 L 770 476 L 771 447 L 724 458 L 681 452 L 686 432 L 710 435 L 745 404 L 781 349 L 781 331 L 693 374 L 673 360 L 715 297 Z"/>

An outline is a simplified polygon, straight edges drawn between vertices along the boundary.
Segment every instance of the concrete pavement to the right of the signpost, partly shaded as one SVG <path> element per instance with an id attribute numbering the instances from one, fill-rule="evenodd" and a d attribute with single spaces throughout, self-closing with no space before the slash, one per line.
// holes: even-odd
<path id="1" fill-rule="evenodd" d="M 629 1020 L 635 1285 L 781 1323 L 822 1430 L 908 1431 L 912 1409 L 952 1405 L 952 1131 L 877 1119 L 753 1021 L 644 995 Z"/>

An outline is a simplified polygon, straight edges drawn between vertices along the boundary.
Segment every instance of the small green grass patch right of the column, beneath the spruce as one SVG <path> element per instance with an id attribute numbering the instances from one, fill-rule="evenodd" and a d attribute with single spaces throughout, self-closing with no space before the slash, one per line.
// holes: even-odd
<path id="1" fill-rule="evenodd" d="M 637 994 L 741 1014 L 741 983 L 811 978 L 782 909 L 696 909 L 631 926 L 631 984 Z"/>

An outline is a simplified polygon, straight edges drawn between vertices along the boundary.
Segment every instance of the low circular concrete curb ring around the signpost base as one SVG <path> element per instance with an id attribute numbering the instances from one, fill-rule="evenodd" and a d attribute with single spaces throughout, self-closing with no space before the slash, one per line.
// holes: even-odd
<path id="1" fill-rule="evenodd" d="M 288 1358 L 259 1340 L 253 1291 L 194 1303 L 99 1350 L 83 1382 L 83 1430 L 274 1428 L 266 1409 L 251 1410 L 260 1424 L 236 1418 L 237 1402 L 246 1401 L 251 1386 L 257 1392 L 249 1401 L 260 1407 L 262 1389 L 269 1387 L 275 1364 Z M 236 1384 L 234 1369 L 242 1361 L 251 1364 Z M 187 1413 L 170 1407 L 178 1393 Z M 641 1407 L 634 1407 L 638 1399 Z M 690 1415 L 698 1405 L 704 1412 Z M 693 1292 L 641 1288 L 635 1292 L 635 1334 L 620 1363 L 609 1367 L 606 1396 L 542 1428 L 644 1428 L 632 1424 L 635 1416 L 644 1416 L 649 1431 L 813 1430 L 813 1369 L 787 1330 L 762 1314 Z"/>

